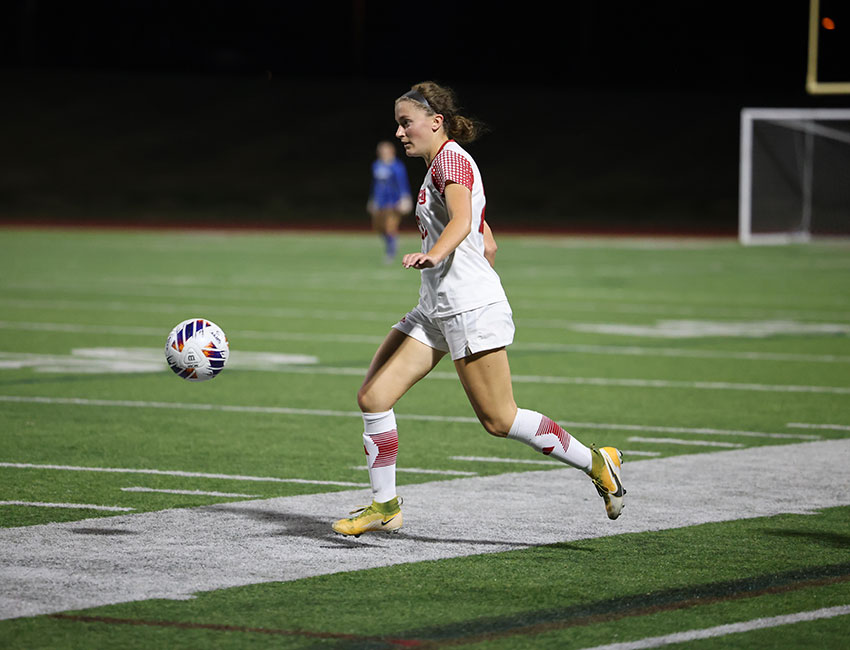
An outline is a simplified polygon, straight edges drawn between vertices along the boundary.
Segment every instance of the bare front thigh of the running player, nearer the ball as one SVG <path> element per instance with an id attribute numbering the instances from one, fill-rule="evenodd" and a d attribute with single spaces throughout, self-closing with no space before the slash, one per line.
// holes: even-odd
<path id="1" fill-rule="evenodd" d="M 398 330 L 390 330 L 357 394 L 360 408 L 366 412 L 388 411 L 444 355 Z"/>

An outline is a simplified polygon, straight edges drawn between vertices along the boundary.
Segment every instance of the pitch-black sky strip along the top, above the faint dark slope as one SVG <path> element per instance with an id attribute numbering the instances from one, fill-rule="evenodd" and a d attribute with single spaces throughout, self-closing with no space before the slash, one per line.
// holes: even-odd
<path id="1" fill-rule="evenodd" d="M 521 7 L 521 9 L 517 7 Z M 17 0 L 0 61 L 298 77 L 799 87 L 808 3 Z"/>

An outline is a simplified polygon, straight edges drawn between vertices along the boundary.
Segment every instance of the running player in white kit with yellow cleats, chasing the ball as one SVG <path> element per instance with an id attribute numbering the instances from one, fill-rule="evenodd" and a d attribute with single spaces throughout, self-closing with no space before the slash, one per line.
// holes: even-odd
<path id="1" fill-rule="evenodd" d="M 404 268 L 421 271 L 419 303 L 379 346 L 357 394 L 372 504 L 335 522 L 334 530 L 357 536 L 401 527 L 393 407 L 447 353 L 488 433 L 519 440 L 586 472 L 608 517 L 616 519 L 625 494 L 620 451 L 588 448 L 542 413 L 518 408 L 514 401 L 505 350 L 513 342 L 513 317 L 493 268 L 496 243 L 484 220 L 481 172 L 459 144 L 475 140 L 480 125 L 458 113 L 450 88 L 433 82 L 415 84 L 399 97 L 395 118 L 407 156 L 428 166 L 415 212 L 422 249 L 402 260 Z"/>

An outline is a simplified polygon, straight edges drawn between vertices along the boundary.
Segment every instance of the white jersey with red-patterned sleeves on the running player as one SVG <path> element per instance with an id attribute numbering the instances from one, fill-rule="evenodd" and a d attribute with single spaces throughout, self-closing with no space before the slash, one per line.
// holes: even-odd
<path id="1" fill-rule="evenodd" d="M 449 223 L 446 183 L 472 192 L 469 235 L 445 260 L 422 270 L 419 306 L 428 316 L 451 316 L 507 300 L 498 274 L 484 257 L 484 184 L 475 161 L 454 140 L 446 142 L 428 168 L 419 190 L 416 224 L 427 253 Z"/>

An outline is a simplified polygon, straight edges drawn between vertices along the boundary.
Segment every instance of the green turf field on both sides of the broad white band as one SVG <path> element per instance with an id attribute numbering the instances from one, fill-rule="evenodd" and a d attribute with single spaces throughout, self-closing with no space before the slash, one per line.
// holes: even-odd
<path id="1" fill-rule="evenodd" d="M 255 579 L 248 561 L 227 583 L 238 586 L 189 589 L 182 599 L 104 596 L 97 606 L 64 609 L 51 609 L 42 590 L 37 615 L 17 613 L 24 592 L 7 587 L 0 645 L 846 647 L 850 481 L 823 476 L 804 451 L 839 441 L 831 460 L 850 461 L 840 442 L 850 439 L 850 247 L 496 235 L 517 324 L 509 350 L 517 401 L 587 444 L 624 450 L 635 501 L 626 498 L 620 520 L 605 520 L 592 490 L 570 488 L 549 495 L 553 519 L 586 501 L 603 520 L 593 525 L 610 527 L 523 546 L 533 517 L 523 521 L 521 499 L 506 501 L 483 513 L 484 524 L 452 533 L 453 543 L 492 542 L 494 552 L 423 559 L 415 553 L 439 527 L 423 530 L 406 512 L 398 536 L 343 548 L 323 511 L 287 520 L 263 545 L 285 568 L 301 522 L 309 534 L 299 553 L 312 544 L 320 562 L 330 547 L 343 558 L 348 549 L 362 568 L 345 559 L 336 571 Z M 401 249 L 417 247 L 405 235 Z M 33 548 L 70 540 L 72 550 L 59 555 L 68 566 L 109 576 L 113 562 L 133 566 L 122 556 L 133 547 L 124 522 L 137 526 L 135 535 L 147 524 L 132 522 L 177 521 L 193 509 L 204 521 L 238 524 L 247 512 L 239 508 L 256 502 L 255 519 L 277 525 L 275 508 L 289 503 L 358 505 L 368 476 L 355 393 L 417 287 L 418 273 L 384 265 L 367 234 L 0 229 L 3 582 L 12 576 L 26 586 L 44 573 L 56 602 L 73 589 L 62 562 L 8 559 L 25 553 L 24 539 Z M 231 360 L 213 381 L 186 382 L 165 365 L 168 332 L 190 317 L 228 334 Z M 564 470 L 547 458 L 481 429 L 446 360 L 396 413 L 402 496 L 405 487 L 427 495 L 455 485 L 446 481 L 476 494 L 476 481 L 561 480 Z M 780 446 L 786 462 L 773 466 Z M 805 463 L 793 462 L 797 448 Z M 816 485 L 829 507 L 801 503 L 800 512 L 780 506 L 755 516 L 748 495 L 759 485 L 736 470 L 681 503 L 705 509 L 705 523 L 647 523 L 642 486 L 629 483 L 630 474 L 645 475 L 641 466 L 659 468 L 663 485 L 664 468 L 683 467 L 686 456 L 705 465 L 749 453 L 764 454 L 789 485 Z M 715 491 L 732 488 L 740 517 L 712 516 Z M 540 496 L 529 494 L 529 503 Z M 451 504 L 422 497 L 412 507 Z M 621 521 L 640 532 L 623 532 L 631 529 L 618 529 Z M 216 539 L 190 530 L 166 530 L 173 546 L 163 553 L 222 552 Z M 103 549 L 97 567 L 73 557 L 89 540 Z M 409 545 L 414 559 L 390 558 L 394 544 Z M 133 568 L 144 577 L 141 560 Z M 185 566 L 186 584 L 196 570 L 215 568 Z M 114 582 L 125 578 L 116 568 Z M 794 618 L 806 612 L 821 614 Z M 768 622 L 751 623 L 761 619 Z M 701 638 L 699 630 L 710 631 Z M 685 636 L 667 636 L 676 633 Z"/>

